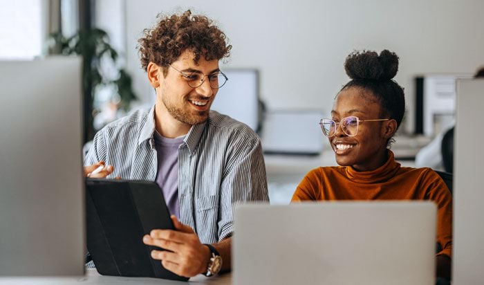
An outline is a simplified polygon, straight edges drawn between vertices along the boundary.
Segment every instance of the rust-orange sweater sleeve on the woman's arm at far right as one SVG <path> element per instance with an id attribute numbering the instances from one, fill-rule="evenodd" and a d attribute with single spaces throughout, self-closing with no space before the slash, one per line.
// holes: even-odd
<path id="1" fill-rule="evenodd" d="M 425 175 L 427 198 L 437 204 L 437 242 L 442 250 L 437 255 L 452 257 L 452 195 L 445 182 L 429 169 Z"/>

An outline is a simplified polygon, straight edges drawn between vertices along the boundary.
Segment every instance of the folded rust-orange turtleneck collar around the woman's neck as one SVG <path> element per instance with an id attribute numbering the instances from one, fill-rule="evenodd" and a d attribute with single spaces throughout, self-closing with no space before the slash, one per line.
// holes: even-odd
<path id="1" fill-rule="evenodd" d="M 380 183 L 387 181 L 389 178 L 395 176 L 400 169 L 400 163 L 395 161 L 393 152 L 388 149 L 388 160 L 384 165 L 371 171 L 359 172 L 352 166 L 346 167 L 346 175 L 352 181 L 357 183 Z"/>

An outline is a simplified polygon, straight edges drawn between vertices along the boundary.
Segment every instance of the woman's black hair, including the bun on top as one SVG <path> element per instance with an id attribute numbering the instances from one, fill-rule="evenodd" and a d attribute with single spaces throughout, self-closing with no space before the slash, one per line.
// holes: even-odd
<path id="1" fill-rule="evenodd" d="M 403 89 L 393 80 L 398 71 L 398 55 L 389 50 L 380 55 L 369 50 L 355 51 L 346 57 L 344 69 L 351 81 L 341 90 L 357 87 L 371 93 L 382 106 L 380 116 L 396 120 L 398 129 L 405 112 Z"/>

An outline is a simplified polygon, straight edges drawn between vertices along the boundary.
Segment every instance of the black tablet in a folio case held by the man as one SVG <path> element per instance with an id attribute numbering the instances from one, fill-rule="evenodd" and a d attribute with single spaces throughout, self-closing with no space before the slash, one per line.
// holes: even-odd
<path id="1" fill-rule="evenodd" d="M 153 229 L 173 229 L 158 184 L 86 178 L 87 248 L 97 272 L 126 277 L 186 281 L 151 258 L 142 237 Z"/>

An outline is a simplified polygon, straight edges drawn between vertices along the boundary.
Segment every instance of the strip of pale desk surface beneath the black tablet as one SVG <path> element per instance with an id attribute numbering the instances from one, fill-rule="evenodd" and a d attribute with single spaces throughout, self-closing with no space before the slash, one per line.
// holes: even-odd
<path id="1" fill-rule="evenodd" d="M 86 268 L 85 276 L 78 277 L 0 277 L 1 285 L 180 285 L 180 284 L 214 284 L 228 285 L 232 283 L 232 274 L 227 273 L 217 277 L 198 275 L 189 282 L 171 281 L 147 277 L 115 277 L 102 276 L 95 268 Z"/>

